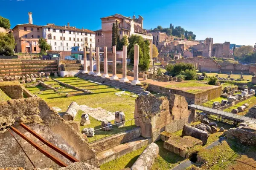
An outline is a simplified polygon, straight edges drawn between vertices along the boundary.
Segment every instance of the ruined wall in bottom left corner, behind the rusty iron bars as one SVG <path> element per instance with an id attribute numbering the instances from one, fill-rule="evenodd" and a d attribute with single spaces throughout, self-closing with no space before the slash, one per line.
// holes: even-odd
<path id="1" fill-rule="evenodd" d="M 32 169 L 32 165 L 20 149 L 12 135 L 7 131 L 9 126 L 14 126 L 33 141 L 41 145 L 41 142 L 19 126 L 19 122 L 43 136 L 46 140 L 75 156 L 80 161 L 98 166 L 96 153 L 88 145 L 86 138 L 74 130 L 57 112 L 51 109 L 41 98 L 26 98 L 9 100 L 0 103 L 0 167 L 24 167 Z M 13 133 L 21 143 L 26 153 L 30 156 L 36 167 L 59 166 L 44 156 L 41 152 L 31 147 L 29 143 Z M 65 163 L 70 161 L 58 153 L 43 145 L 45 150 L 51 152 Z"/>

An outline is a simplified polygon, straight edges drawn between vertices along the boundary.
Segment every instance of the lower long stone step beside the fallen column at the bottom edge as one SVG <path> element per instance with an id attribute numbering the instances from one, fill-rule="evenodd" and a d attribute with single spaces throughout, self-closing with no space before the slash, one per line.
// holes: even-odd
<path id="1" fill-rule="evenodd" d="M 109 161 L 112 161 L 116 158 L 120 158 L 121 156 L 131 153 L 134 150 L 138 150 L 141 147 L 148 145 L 151 143 L 150 139 L 145 139 L 143 137 L 135 138 L 131 141 L 128 141 L 124 144 L 120 144 L 116 147 L 113 147 L 111 149 L 102 151 L 97 154 L 97 158 L 99 160 L 99 164 L 105 164 Z"/>

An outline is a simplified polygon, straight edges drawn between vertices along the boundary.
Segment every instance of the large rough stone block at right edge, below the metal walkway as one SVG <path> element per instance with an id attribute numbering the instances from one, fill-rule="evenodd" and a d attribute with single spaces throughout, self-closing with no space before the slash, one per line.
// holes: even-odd
<path id="1" fill-rule="evenodd" d="M 243 144 L 256 146 L 256 122 L 245 121 L 239 127 L 224 132 L 228 139 L 237 139 Z"/>

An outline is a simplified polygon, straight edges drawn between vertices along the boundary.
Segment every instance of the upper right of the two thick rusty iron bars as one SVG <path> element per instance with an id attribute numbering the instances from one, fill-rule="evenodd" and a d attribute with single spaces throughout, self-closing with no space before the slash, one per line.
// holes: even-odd
<path id="1" fill-rule="evenodd" d="M 48 147 L 52 148 L 53 150 L 55 150 L 56 152 L 60 153 L 62 156 L 64 156 L 65 158 L 67 158 L 68 160 L 72 161 L 72 162 L 79 162 L 78 159 L 76 159 L 75 157 L 71 156 L 70 154 L 66 153 L 64 150 L 61 150 L 60 148 L 56 147 L 55 145 L 53 145 L 52 143 L 50 143 L 49 141 L 47 141 L 46 139 L 44 139 L 41 135 L 39 135 L 38 133 L 36 133 L 34 130 L 32 130 L 30 127 L 26 126 L 26 124 L 20 123 L 20 126 L 23 127 L 25 130 L 27 130 L 29 133 L 31 133 L 32 135 L 34 135 L 36 138 L 38 138 L 40 141 L 42 141 L 44 144 L 46 144 Z"/>

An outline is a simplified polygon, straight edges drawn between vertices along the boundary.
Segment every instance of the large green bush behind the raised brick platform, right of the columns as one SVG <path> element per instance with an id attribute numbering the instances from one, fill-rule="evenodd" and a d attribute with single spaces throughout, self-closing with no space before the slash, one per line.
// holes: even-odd
<path id="1" fill-rule="evenodd" d="M 166 71 L 171 72 L 173 76 L 179 75 L 180 72 L 186 71 L 186 70 L 194 70 L 195 71 L 195 66 L 191 63 L 177 63 L 174 65 L 168 65 L 166 66 Z"/>

